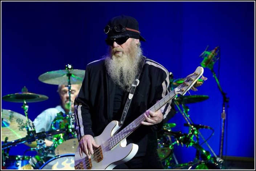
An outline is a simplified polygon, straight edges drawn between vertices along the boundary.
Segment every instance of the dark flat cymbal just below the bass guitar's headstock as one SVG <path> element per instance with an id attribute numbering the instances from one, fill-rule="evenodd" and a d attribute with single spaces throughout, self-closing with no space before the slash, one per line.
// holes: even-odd
<path id="1" fill-rule="evenodd" d="M 181 103 L 188 104 L 188 103 L 202 102 L 208 98 L 209 98 L 208 95 L 187 95 L 187 96 L 179 96 L 174 99 L 179 104 Z"/>

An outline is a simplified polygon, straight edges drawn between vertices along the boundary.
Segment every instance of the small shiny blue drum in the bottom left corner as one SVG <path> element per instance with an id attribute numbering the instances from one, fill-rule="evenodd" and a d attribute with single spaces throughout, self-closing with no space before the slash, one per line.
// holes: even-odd
<path id="1" fill-rule="evenodd" d="M 7 170 L 33 170 L 29 164 L 30 156 L 10 155 L 5 159 L 5 168 Z"/>

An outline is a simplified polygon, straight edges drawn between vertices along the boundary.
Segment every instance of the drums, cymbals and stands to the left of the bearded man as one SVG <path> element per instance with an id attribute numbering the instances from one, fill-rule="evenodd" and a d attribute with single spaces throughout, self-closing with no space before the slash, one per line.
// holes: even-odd
<path id="1" fill-rule="evenodd" d="M 66 85 L 69 90 L 69 112 L 57 114 L 52 121 L 52 130 L 36 132 L 33 122 L 28 118 L 28 104 L 41 102 L 48 99 L 47 96 L 31 93 L 26 87 L 21 92 L 8 94 L 2 97 L 4 101 L 23 103 L 24 115 L 11 110 L 1 109 L 2 125 L 2 169 L 42 169 L 42 170 L 74 170 L 74 153 L 78 146 L 76 131 L 74 128 L 74 113 L 71 107 L 71 84 L 81 84 L 85 70 L 73 69 L 67 64 L 65 70 L 46 72 L 38 77 L 38 80 L 46 84 Z M 46 146 L 45 139 L 53 137 L 53 145 Z M 38 155 L 9 155 L 10 148 L 20 144 L 36 142 L 34 150 Z"/>

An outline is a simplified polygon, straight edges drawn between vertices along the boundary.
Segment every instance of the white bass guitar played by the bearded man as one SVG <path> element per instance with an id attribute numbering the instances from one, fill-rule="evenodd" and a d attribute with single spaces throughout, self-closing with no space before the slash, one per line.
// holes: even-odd
<path id="1" fill-rule="evenodd" d="M 188 75 L 182 84 L 154 104 L 149 110 L 155 112 L 176 95 L 186 94 L 186 92 L 197 82 L 199 77 L 202 76 L 203 72 L 204 69 L 202 67 L 197 67 L 195 72 Z M 84 153 L 83 156 L 80 157 L 78 145 L 75 153 L 75 169 L 113 169 L 118 164 L 125 163 L 133 158 L 138 151 L 138 145 L 133 143 L 126 145 L 126 137 L 135 131 L 135 129 L 141 125 L 142 121 L 146 121 L 144 114 L 145 112 L 121 131 L 119 131 L 121 126 L 118 121 L 111 121 L 99 136 L 94 137 L 96 144 L 100 146 L 94 150 L 90 159 Z"/>

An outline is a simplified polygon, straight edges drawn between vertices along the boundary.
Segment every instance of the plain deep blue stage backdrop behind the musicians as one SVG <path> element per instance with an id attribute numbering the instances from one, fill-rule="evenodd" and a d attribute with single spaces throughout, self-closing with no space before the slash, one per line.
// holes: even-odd
<path id="1" fill-rule="evenodd" d="M 184 78 L 200 66 L 202 52 L 219 46 L 214 72 L 229 103 L 224 129 L 223 155 L 255 157 L 255 2 L 1 2 L 1 97 L 21 92 L 49 97 L 28 103 L 32 121 L 60 100 L 57 85 L 40 82 L 49 71 L 85 70 L 88 63 L 105 55 L 103 29 L 114 16 L 135 17 L 144 55 L 164 65 L 174 79 Z M 210 69 L 208 80 L 190 91 L 209 98 L 186 104 L 195 124 L 214 129 L 214 135 L 202 145 L 219 156 L 223 96 Z M 190 95 L 189 93 L 186 96 Z M 1 108 L 24 115 L 22 103 L 1 100 Z M 180 106 L 181 107 L 181 106 Z M 188 133 L 181 112 L 169 120 L 172 131 Z M 183 110 L 183 108 L 181 108 Z M 211 129 L 199 130 L 207 139 Z M 3 141 L 3 139 L 2 139 Z M 199 142 L 203 138 L 199 136 Z M 3 143 L 3 142 L 2 142 Z M 24 144 L 12 147 L 10 155 L 23 155 Z M 195 148 L 174 145 L 178 162 L 195 158 Z M 29 154 L 28 154 L 29 155 Z"/>

